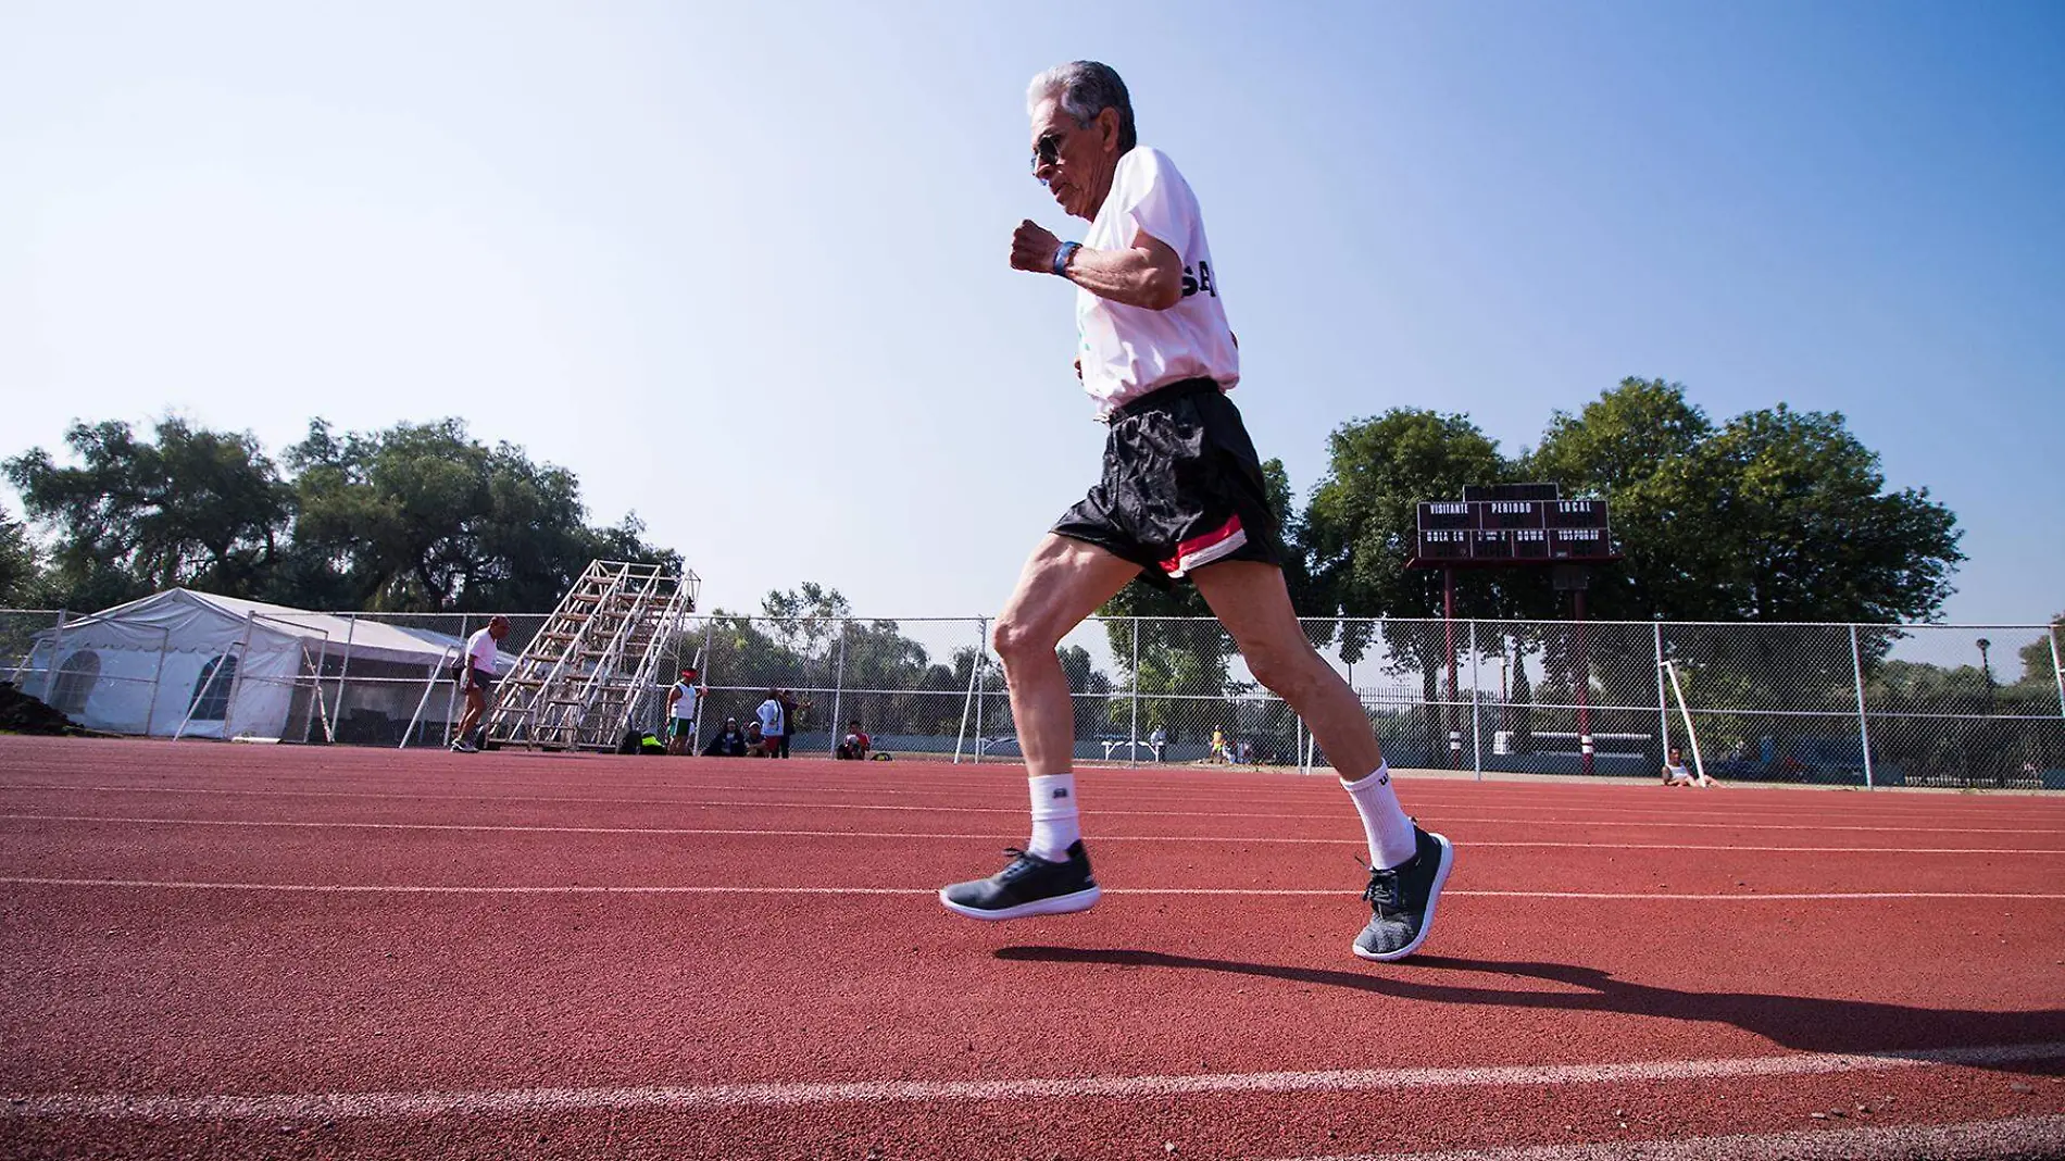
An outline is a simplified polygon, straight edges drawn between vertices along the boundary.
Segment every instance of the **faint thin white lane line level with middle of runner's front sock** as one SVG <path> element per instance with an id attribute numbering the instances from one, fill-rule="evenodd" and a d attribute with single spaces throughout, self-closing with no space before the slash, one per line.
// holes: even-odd
<path id="1" fill-rule="evenodd" d="M 543 795 L 481 795 L 481 793 L 374 793 L 374 791 L 264 791 L 264 789 L 190 789 L 190 787 L 68 787 L 68 785 L 0 785 L 0 793 L 10 789 L 31 791 L 85 791 L 85 793 L 169 793 L 169 795 L 240 795 L 240 797 L 374 797 L 390 802 L 469 802 L 483 804 L 576 804 L 589 808 L 609 806 L 671 806 L 675 810 L 878 810 L 909 814 L 1024 814 L 1024 806 L 894 806 L 878 802 L 735 802 L 735 799 L 667 799 L 667 797 L 543 797 Z M 1338 822 L 1342 812 L 1328 814 L 1260 814 L 1245 810 L 1127 810 L 1094 808 L 1092 814 L 1107 818 L 1297 818 Z M 1861 830 L 1898 835 L 2051 835 L 2065 826 L 1848 826 L 1848 824 L 1790 824 L 1790 822 L 1677 822 L 1677 820 L 1584 820 L 1584 818 L 1497 818 L 1497 816 L 1443 816 L 1437 822 L 1456 824 L 1514 824 L 1534 828 L 1576 828 L 1576 826 L 1625 826 L 1625 828 L 1697 828 L 1697 830 Z"/>

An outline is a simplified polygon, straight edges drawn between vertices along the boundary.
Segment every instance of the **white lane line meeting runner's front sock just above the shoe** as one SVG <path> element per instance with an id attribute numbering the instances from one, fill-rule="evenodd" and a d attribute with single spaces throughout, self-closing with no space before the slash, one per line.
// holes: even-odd
<path id="1" fill-rule="evenodd" d="M 124 826 L 248 826 L 287 830 L 430 830 L 430 833 L 489 833 L 489 835 L 657 835 L 657 837 L 712 837 L 735 835 L 743 839 L 966 839 L 995 841 L 995 833 L 946 833 L 946 830 L 770 830 L 754 826 L 512 826 L 491 822 L 289 822 L 279 818 L 145 818 L 120 814 L 0 814 L 0 822 L 116 822 Z M 1284 839 L 1262 835 L 1097 835 L 1099 843 L 1256 843 L 1295 847 L 1340 847 L 1357 845 L 1355 837 L 1340 839 Z M 2053 847 L 1739 847 L 1739 845 L 1693 845 L 1693 843 L 1512 843 L 1466 839 L 1462 845 L 1472 851 L 1485 847 L 1518 847 L 1540 851 L 1743 851 L 1772 855 L 2065 855 Z"/>

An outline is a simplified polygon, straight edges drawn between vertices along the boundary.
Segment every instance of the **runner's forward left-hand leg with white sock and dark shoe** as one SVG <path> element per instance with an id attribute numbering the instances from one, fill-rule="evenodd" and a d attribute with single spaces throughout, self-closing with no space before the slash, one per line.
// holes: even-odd
<path id="1" fill-rule="evenodd" d="M 1032 550 L 991 640 L 1004 659 L 1012 721 L 1026 756 L 1032 837 L 1002 872 L 940 890 L 971 919 L 1066 915 L 1097 903 L 1076 820 L 1076 707 L 1055 647 L 1140 572 L 1097 545 L 1049 533 Z"/>

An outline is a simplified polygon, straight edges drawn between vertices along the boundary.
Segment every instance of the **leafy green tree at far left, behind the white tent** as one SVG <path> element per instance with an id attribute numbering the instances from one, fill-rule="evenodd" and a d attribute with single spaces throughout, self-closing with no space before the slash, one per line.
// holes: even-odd
<path id="1" fill-rule="evenodd" d="M 74 423 L 76 467 L 43 448 L 6 461 L 31 521 L 54 531 L 58 597 L 99 607 L 155 589 L 264 591 L 293 496 L 250 434 L 161 419 L 155 440 L 122 421 Z"/>

